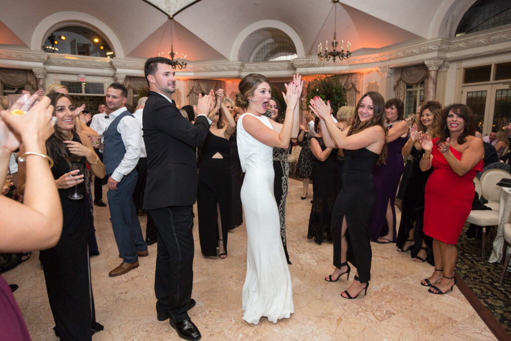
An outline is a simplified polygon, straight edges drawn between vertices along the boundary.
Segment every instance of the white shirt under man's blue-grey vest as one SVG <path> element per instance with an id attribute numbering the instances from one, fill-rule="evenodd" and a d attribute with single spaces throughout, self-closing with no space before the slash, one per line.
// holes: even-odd
<path id="1" fill-rule="evenodd" d="M 110 115 L 108 115 L 108 126 L 110 126 L 110 123 L 112 123 L 112 121 L 124 111 L 126 111 L 126 107 L 123 106 L 120 109 L 110 112 Z M 119 166 L 115 168 L 110 177 L 115 181 L 121 181 L 124 175 L 131 173 L 138 163 L 138 158 L 140 157 L 140 140 L 142 139 L 142 130 L 140 129 L 140 124 L 138 124 L 135 118 L 125 116 L 121 119 L 121 121 L 119 121 L 117 131 L 121 134 L 121 139 L 123 140 L 124 147 L 126 148 L 126 153 L 124 154 L 123 160 Z"/>

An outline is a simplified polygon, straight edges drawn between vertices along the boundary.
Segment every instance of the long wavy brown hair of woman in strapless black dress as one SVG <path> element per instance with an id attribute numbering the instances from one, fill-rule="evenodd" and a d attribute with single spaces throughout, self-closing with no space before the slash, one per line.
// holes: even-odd
<path id="1" fill-rule="evenodd" d="M 371 100 L 373 100 L 373 116 L 369 118 L 368 120 L 362 122 L 360 121 L 360 117 L 358 116 L 358 109 L 360 108 L 360 104 L 362 103 L 362 100 L 369 96 Z M 373 126 L 380 126 L 383 128 L 383 131 L 385 132 L 385 140 L 383 143 L 383 148 L 380 153 L 380 156 L 378 157 L 377 164 L 385 164 L 385 160 L 387 158 L 387 134 L 388 129 L 385 126 L 385 100 L 383 99 L 382 95 L 380 93 L 377 93 L 375 91 L 369 91 L 362 95 L 360 100 L 358 101 L 357 107 L 355 108 L 354 113 L 354 119 L 353 123 L 351 125 L 350 131 L 348 131 L 348 136 L 356 134 L 357 132 L 360 132 L 366 128 L 373 127 Z"/>

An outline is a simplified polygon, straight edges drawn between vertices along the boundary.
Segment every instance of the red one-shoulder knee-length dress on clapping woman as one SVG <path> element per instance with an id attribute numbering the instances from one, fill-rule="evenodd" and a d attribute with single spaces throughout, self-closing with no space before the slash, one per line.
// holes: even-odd
<path id="1" fill-rule="evenodd" d="M 424 234 L 447 244 L 457 244 L 463 225 L 474 200 L 474 183 L 477 172 L 482 171 L 482 160 L 467 174 L 459 176 L 438 151 L 433 139 L 433 173 L 428 178 L 424 195 Z M 451 148 L 460 160 L 461 153 Z"/>

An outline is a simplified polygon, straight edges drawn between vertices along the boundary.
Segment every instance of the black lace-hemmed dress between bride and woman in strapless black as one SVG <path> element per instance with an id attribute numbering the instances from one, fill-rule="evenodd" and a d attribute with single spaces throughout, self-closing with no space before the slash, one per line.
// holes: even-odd
<path id="1" fill-rule="evenodd" d="M 313 137 L 321 150 L 327 149 L 323 139 Z M 341 177 L 337 163 L 338 149 L 332 149 L 327 160 L 319 161 L 312 156 L 312 207 L 309 216 L 307 238 L 321 244 L 323 240 L 332 240 L 331 221 L 336 198 L 341 190 Z"/>

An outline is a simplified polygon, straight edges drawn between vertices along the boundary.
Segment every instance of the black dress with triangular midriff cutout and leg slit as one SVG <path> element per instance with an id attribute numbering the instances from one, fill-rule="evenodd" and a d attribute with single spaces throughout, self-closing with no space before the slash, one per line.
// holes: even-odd
<path id="1" fill-rule="evenodd" d="M 208 131 L 201 150 L 197 188 L 200 249 L 204 256 L 216 256 L 219 239 L 223 239 L 227 252 L 227 231 L 233 228 L 229 141 Z M 220 153 L 223 158 L 213 158 L 216 153 Z M 220 208 L 222 236 L 218 234 L 217 203 Z"/>

